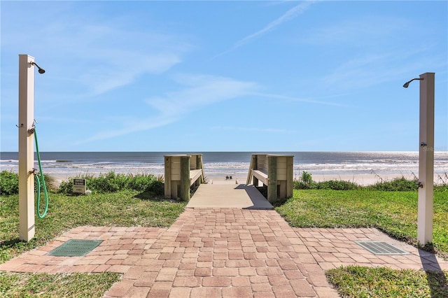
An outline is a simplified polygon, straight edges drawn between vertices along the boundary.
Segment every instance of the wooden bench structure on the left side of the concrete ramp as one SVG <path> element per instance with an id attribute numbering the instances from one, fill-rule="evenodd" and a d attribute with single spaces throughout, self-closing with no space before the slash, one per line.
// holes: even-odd
<path id="1" fill-rule="evenodd" d="M 164 155 L 165 197 L 190 201 L 190 186 L 204 183 L 202 154 Z"/>

